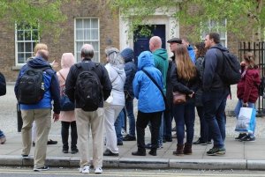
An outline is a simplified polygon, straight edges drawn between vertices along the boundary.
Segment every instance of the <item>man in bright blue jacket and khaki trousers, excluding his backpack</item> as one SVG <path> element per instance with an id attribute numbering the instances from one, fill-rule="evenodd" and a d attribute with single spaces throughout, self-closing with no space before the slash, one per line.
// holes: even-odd
<path id="1" fill-rule="evenodd" d="M 34 152 L 34 171 L 48 170 L 49 167 L 44 165 L 46 159 L 47 139 L 49 129 L 51 127 L 51 100 L 54 100 L 54 114 L 53 119 L 55 122 L 59 120 L 60 114 L 60 88 L 57 79 L 57 73 L 50 68 L 48 63 L 49 52 L 47 50 L 39 50 L 35 58 L 29 61 L 22 67 L 19 72 L 19 77 L 22 76 L 29 67 L 34 69 L 42 69 L 48 67 L 43 71 L 44 77 L 44 97 L 35 105 L 20 104 L 21 115 L 23 119 L 23 127 L 21 129 L 22 135 L 22 159 L 29 159 L 29 152 L 32 143 L 32 126 L 33 122 L 36 123 L 36 145 Z M 17 90 L 19 85 L 19 77 L 15 85 L 15 94 L 18 95 Z"/>

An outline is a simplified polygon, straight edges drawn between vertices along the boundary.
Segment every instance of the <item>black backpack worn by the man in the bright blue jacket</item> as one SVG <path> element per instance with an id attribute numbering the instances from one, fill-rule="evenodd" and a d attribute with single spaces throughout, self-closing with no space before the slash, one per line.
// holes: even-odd
<path id="1" fill-rule="evenodd" d="M 44 93 L 49 90 L 44 88 L 43 74 L 45 70 L 51 69 L 49 67 L 34 69 L 28 66 L 22 76 L 19 77 L 19 84 L 17 87 L 17 99 L 19 104 L 35 105 L 39 103 Z"/>

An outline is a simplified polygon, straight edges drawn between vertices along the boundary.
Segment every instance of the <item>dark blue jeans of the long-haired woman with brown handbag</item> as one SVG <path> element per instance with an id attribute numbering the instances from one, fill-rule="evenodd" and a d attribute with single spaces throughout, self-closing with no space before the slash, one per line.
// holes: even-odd
<path id="1" fill-rule="evenodd" d="M 173 104 L 173 114 L 176 122 L 178 144 L 184 144 L 186 125 L 186 144 L 193 143 L 195 103 Z"/>

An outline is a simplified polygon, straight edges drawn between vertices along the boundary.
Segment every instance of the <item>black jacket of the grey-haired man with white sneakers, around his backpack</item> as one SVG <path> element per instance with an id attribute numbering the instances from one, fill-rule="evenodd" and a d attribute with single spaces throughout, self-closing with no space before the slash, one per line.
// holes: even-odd
<path id="1" fill-rule="evenodd" d="M 90 59 L 87 58 L 83 59 L 81 65 L 87 70 L 92 70 L 92 68 L 95 66 L 94 62 L 92 62 Z M 74 102 L 75 100 L 75 84 L 77 77 L 79 76 L 79 73 L 80 70 L 78 70 L 76 64 L 73 64 L 66 78 L 66 83 L 65 83 L 66 93 L 68 95 L 69 100 L 71 100 L 72 102 Z M 95 73 L 99 77 L 102 84 L 103 100 L 107 100 L 110 96 L 110 92 L 112 89 L 108 71 L 100 63 L 100 65 L 96 67 Z M 99 107 L 103 107 L 103 100 L 101 101 Z M 80 106 L 77 103 L 75 107 L 80 108 Z"/>

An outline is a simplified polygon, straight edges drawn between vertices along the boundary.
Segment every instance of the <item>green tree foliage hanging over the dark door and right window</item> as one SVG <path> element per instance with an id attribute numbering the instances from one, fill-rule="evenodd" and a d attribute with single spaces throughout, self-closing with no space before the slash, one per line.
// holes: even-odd
<path id="1" fill-rule="evenodd" d="M 163 14 L 170 12 L 171 17 L 191 31 L 194 40 L 201 39 L 201 32 L 208 29 L 208 19 L 226 19 L 226 26 L 217 26 L 223 32 L 237 34 L 239 39 L 247 39 L 249 30 L 253 30 L 253 41 L 261 40 L 261 29 L 265 26 L 265 10 L 263 0 L 107 0 L 112 11 L 119 11 L 132 34 L 139 26 L 141 35 L 149 35 L 144 28 L 155 11 Z M 176 7 L 178 11 L 170 11 Z M 130 19 L 130 20 L 129 20 Z M 211 29 L 214 30 L 214 29 Z"/>

